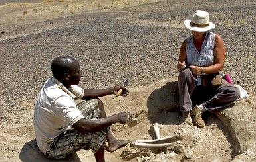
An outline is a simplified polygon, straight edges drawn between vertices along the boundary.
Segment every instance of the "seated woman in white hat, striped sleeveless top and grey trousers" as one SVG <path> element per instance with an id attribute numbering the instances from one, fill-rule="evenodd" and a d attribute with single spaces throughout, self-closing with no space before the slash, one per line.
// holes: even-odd
<path id="1" fill-rule="evenodd" d="M 177 64 L 180 111 L 184 124 L 191 125 L 192 116 L 195 125 L 203 128 L 202 112 L 230 106 L 239 98 L 240 92 L 235 85 L 221 79 L 225 46 L 221 36 L 209 32 L 215 28 L 209 21 L 209 13 L 197 10 L 192 20 L 185 20 L 184 24 L 192 30 L 192 35 L 182 42 Z"/>

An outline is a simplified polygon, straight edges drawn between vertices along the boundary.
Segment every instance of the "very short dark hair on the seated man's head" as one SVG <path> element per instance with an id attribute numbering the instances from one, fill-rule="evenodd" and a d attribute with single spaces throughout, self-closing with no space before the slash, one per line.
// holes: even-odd
<path id="1" fill-rule="evenodd" d="M 53 59 L 51 63 L 51 71 L 56 79 L 59 79 L 64 73 L 71 73 L 72 67 L 79 65 L 71 56 L 59 56 Z"/>

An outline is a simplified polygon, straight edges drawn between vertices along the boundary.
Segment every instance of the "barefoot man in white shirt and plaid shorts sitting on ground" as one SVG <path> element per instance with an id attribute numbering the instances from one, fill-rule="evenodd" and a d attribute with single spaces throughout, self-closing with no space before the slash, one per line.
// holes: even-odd
<path id="1" fill-rule="evenodd" d="M 116 122 L 128 124 L 132 115 L 120 112 L 107 117 L 98 99 L 119 89 L 123 90 L 121 95 L 128 95 L 123 85 L 100 90 L 78 87 L 80 65 L 70 56 L 55 58 L 51 70 L 53 77 L 43 85 L 34 112 L 37 145 L 46 157 L 63 159 L 80 149 L 91 149 L 96 161 L 105 161 L 105 140 L 110 152 L 130 142 L 114 138 L 110 126 Z M 85 101 L 76 106 L 76 99 Z"/>

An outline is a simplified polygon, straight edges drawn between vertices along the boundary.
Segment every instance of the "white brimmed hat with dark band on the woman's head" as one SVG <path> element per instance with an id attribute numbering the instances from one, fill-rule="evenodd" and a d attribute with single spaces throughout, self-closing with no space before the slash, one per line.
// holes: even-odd
<path id="1" fill-rule="evenodd" d="M 209 21 L 209 13 L 206 11 L 197 10 L 192 17 L 192 20 L 185 20 L 185 26 L 196 32 L 206 32 L 215 28 L 215 24 Z"/>

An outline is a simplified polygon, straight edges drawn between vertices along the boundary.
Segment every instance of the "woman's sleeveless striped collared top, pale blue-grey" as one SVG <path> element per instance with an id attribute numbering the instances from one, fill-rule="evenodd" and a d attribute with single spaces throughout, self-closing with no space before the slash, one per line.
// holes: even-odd
<path id="1" fill-rule="evenodd" d="M 193 44 L 193 36 L 186 38 L 186 54 L 187 54 L 187 64 L 196 65 L 199 67 L 207 67 L 213 65 L 214 54 L 213 49 L 215 45 L 215 34 L 213 32 L 206 32 L 205 39 L 201 46 L 201 51 L 199 52 L 195 45 Z"/>

